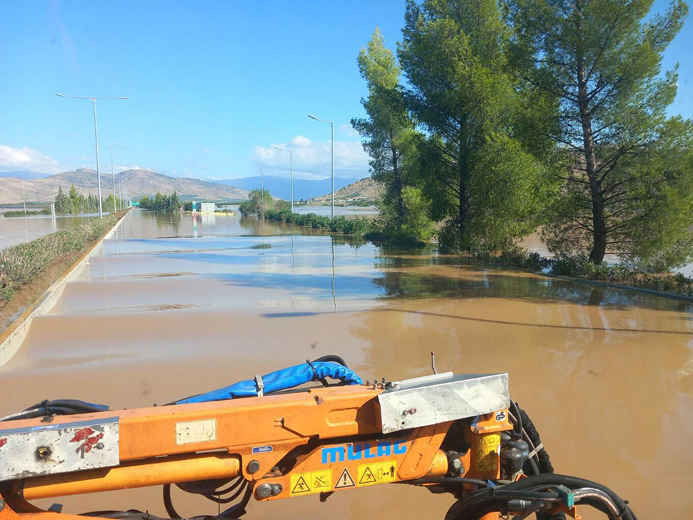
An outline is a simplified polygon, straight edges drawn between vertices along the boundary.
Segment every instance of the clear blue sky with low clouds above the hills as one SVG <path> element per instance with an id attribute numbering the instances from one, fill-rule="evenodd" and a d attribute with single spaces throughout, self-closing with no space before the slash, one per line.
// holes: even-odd
<path id="1" fill-rule="evenodd" d="M 657 0 L 654 9 L 663 10 Z M 329 176 L 335 123 L 337 176 L 368 174 L 349 126 L 365 94 L 357 54 L 376 26 L 394 49 L 404 0 L 24 1 L 0 5 L 0 170 L 56 173 L 94 167 L 99 144 L 116 168 L 229 179 Z M 667 50 L 679 61 L 671 114 L 693 116 L 693 21 Z M 101 168 L 110 157 L 101 151 Z"/>

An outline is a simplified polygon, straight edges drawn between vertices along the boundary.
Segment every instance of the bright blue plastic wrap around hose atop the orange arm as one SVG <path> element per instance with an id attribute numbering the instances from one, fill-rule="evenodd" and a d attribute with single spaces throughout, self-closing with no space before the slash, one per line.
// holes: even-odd
<path id="1" fill-rule="evenodd" d="M 264 384 L 264 394 L 294 388 L 310 381 L 319 381 L 330 377 L 339 379 L 342 384 L 362 384 L 362 379 L 351 369 L 334 361 L 316 361 L 314 363 L 304 363 L 296 366 L 289 366 L 288 369 L 281 369 L 270 372 L 262 376 Z M 235 399 L 236 397 L 257 396 L 258 387 L 255 379 L 239 381 L 224 388 L 212 390 L 199 396 L 188 397 L 176 401 L 175 404 L 206 403 L 208 401 L 224 401 L 224 399 Z"/>

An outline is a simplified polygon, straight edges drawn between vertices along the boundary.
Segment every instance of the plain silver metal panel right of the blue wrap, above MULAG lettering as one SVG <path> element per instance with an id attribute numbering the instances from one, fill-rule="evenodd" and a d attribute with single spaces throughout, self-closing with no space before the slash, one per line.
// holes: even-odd
<path id="1" fill-rule="evenodd" d="M 394 385 L 378 396 L 384 434 L 489 414 L 510 406 L 508 374 L 436 374 Z"/>

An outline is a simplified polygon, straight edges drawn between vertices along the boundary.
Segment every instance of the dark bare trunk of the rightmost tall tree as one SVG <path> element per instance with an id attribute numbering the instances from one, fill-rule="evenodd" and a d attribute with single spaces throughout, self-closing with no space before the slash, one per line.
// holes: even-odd
<path id="1" fill-rule="evenodd" d="M 592 197 L 592 251 L 589 261 L 601 264 L 607 252 L 607 223 L 604 220 L 604 193 L 602 183 L 597 176 L 597 160 L 594 156 L 594 138 L 592 136 L 592 115 L 589 113 L 587 99 L 587 81 L 584 77 L 584 60 L 577 56 L 577 99 L 582 123 L 582 140 L 584 144 L 584 160 L 589 179 L 589 194 Z"/>

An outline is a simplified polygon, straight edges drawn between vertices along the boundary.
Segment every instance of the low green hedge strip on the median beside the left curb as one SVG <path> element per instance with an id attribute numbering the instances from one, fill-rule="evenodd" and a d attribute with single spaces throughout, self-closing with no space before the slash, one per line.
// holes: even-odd
<path id="1" fill-rule="evenodd" d="M 0 307 L 51 264 L 94 244 L 123 215 L 124 211 L 104 215 L 0 251 Z"/>

